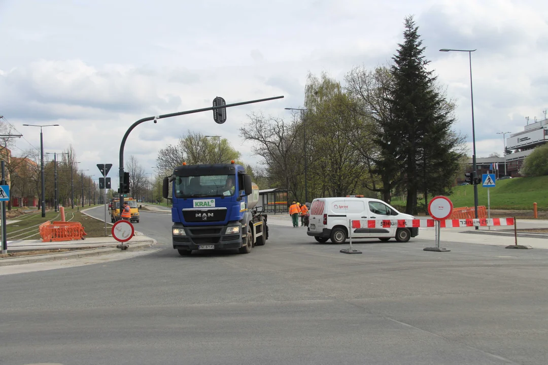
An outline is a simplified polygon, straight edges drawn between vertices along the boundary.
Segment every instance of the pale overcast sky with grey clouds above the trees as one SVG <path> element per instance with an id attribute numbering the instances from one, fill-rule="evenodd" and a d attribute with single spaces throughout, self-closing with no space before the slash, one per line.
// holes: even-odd
<path id="1" fill-rule="evenodd" d="M 258 159 L 238 137 L 246 114 L 289 117 L 301 107 L 306 74 L 341 80 L 353 66 L 391 61 L 403 18 L 414 14 L 439 81 L 458 103 L 455 129 L 471 142 L 472 54 L 478 157 L 503 151 L 496 132 L 523 130 L 548 107 L 548 2 L 540 0 L 0 0 L 0 115 L 24 135 L 14 154 L 72 144 L 82 169 L 112 163 L 122 135 L 150 115 L 283 95 L 227 109 L 218 125 L 206 112 L 147 122 L 128 139 L 153 172 L 157 152 L 187 129 L 229 138 L 243 159 Z M 471 143 L 470 143 L 471 144 Z M 116 179 L 117 180 L 117 179 Z"/>

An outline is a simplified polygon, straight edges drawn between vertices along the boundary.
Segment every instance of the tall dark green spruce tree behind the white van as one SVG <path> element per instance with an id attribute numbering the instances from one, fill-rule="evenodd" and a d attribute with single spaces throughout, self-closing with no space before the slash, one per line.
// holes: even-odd
<path id="1" fill-rule="evenodd" d="M 407 189 L 406 213 L 417 213 L 417 194 L 444 194 L 452 185 L 461 157 L 462 138 L 451 127 L 454 105 L 439 92 L 426 66 L 425 47 L 412 16 L 405 19 L 404 42 L 392 57 L 393 88 L 389 95 L 393 119 L 384 131 Z M 426 205 L 426 204 L 425 204 Z"/>

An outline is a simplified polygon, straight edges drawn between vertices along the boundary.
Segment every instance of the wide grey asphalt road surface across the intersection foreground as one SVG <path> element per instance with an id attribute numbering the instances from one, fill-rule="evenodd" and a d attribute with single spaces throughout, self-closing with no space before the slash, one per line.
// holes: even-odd
<path id="1" fill-rule="evenodd" d="M 180 257 L 170 216 L 141 215 L 165 250 L 0 279 L 0 364 L 548 363 L 547 250 L 345 255 L 271 225 L 250 254 Z"/>

